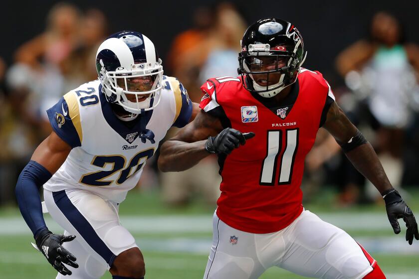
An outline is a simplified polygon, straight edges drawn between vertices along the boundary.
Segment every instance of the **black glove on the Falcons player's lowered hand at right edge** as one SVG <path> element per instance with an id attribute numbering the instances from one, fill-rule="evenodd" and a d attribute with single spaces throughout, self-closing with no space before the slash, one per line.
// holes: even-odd
<path id="1" fill-rule="evenodd" d="M 406 231 L 406 241 L 412 245 L 414 236 L 419 240 L 418 224 L 416 223 L 415 216 L 397 190 L 391 189 L 386 192 L 388 193 L 383 193 L 383 197 L 386 202 L 387 216 L 389 217 L 394 233 L 400 233 L 400 226 L 397 219 L 403 218 L 408 228 Z"/>

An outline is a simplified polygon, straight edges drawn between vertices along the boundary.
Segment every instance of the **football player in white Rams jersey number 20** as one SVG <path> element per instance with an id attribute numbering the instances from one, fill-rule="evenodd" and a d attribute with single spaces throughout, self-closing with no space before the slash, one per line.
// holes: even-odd
<path id="1" fill-rule="evenodd" d="M 167 130 L 185 126 L 199 109 L 176 78 L 163 75 L 154 44 L 141 33 L 108 37 L 96 68 L 98 80 L 47 111 L 53 131 L 21 172 L 16 197 L 57 278 L 101 278 L 107 269 L 113 279 L 144 278 L 143 255 L 121 226 L 118 206 Z M 63 235 L 45 225 L 41 186 Z"/>

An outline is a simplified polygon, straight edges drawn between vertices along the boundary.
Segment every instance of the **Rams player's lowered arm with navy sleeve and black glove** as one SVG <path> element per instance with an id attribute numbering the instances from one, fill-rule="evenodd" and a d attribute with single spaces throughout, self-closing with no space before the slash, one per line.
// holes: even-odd
<path id="1" fill-rule="evenodd" d="M 64 242 L 73 240 L 75 236 L 56 235 L 48 230 L 42 216 L 39 188 L 58 170 L 70 151 L 71 147 L 52 132 L 36 148 L 16 183 L 17 203 L 38 250 L 63 275 L 71 274 L 63 264 L 78 267 L 76 258 L 62 247 Z"/>

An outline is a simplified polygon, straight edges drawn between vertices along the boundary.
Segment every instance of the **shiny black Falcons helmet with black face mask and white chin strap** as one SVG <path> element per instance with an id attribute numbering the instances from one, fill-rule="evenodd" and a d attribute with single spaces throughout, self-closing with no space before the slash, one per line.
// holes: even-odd
<path id="1" fill-rule="evenodd" d="M 306 54 L 303 38 L 293 24 L 278 18 L 260 19 L 244 32 L 237 71 L 247 90 L 272 97 L 297 80 Z M 280 73 L 274 84 L 272 73 Z M 263 81 L 257 83 L 254 74 L 263 75 Z"/>

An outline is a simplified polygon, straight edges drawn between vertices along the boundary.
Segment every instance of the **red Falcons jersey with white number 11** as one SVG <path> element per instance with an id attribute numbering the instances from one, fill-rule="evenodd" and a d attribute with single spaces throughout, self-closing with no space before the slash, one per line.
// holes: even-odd
<path id="1" fill-rule="evenodd" d="M 287 227 L 303 210 L 304 159 L 324 121 L 327 100 L 334 100 L 330 86 L 319 72 L 301 69 L 280 104 L 247 91 L 241 77 L 209 79 L 201 89 L 201 109 L 218 117 L 224 128 L 255 133 L 231 154 L 219 155 L 217 216 L 250 233 Z"/>

